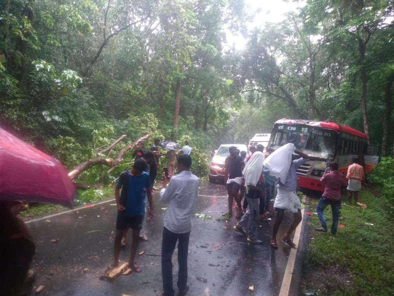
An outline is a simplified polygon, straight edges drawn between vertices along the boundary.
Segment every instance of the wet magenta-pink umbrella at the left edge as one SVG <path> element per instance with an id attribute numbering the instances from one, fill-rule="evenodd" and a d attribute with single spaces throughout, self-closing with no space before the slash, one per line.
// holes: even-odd
<path id="1" fill-rule="evenodd" d="M 76 188 L 63 165 L 0 128 L 0 200 L 72 208 Z"/>

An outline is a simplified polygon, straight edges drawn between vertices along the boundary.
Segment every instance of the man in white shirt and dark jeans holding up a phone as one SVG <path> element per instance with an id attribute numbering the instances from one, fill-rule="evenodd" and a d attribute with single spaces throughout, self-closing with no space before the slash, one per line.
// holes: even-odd
<path id="1" fill-rule="evenodd" d="M 167 178 L 163 174 L 163 189 L 160 191 L 160 199 L 168 204 L 164 216 L 162 242 L 163 296 L 175 295 L 171 259 L 177 241 L 179 295 L 184 295 L 189 290 L 187 281 L 191 216 L 198 197 L 198 178 L 191 173 L 190 167 L 190 155 L 182 154 L 177 157 L 179 174 L 173 177 L 168 176 L 168 179 L 170 179 L 168 187 Z"/>

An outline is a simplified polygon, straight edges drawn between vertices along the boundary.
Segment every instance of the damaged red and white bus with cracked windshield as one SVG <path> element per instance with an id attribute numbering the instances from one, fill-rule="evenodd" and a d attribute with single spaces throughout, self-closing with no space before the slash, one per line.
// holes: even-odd
<path id="1" fill-rule="evenodd" d="M 365 162 L 366 172 L 379 161 L 379 146 L 368 144 L 368 137 L 361 131 L 334 122 L 278 120 L 268 146 L 276 149 L 287 143 L 293 143 L 297 150 L 313 157 L 297 169 L 298 186 L 318 191 L 324 190 L 319 180 L 329 161 L 338 162 L 344 178 L 354 156 Z"/>

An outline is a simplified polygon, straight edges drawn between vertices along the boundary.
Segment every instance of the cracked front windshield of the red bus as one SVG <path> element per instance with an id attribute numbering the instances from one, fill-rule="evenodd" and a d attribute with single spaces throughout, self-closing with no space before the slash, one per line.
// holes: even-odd
<path id="1" fill-rule="evenodd" d="M 296 149 L 313 157 L 333 159 L 335 155 L 337 133 L 322 127 L 301 126 L 296 124 L 277 124 L 270 147 L 276 149 L 293 143 Z"/>

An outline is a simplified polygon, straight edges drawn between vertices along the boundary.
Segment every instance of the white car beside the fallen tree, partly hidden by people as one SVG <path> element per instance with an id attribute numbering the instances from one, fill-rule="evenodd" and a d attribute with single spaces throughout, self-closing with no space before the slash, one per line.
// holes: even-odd
<path id="1" fill-rule="evenodd" d="M 209 181 L 214 182 L 215 180 L 224 181 L 224 162 L 226 157 L 229 156 L 229 148 L 236 146 L 240 151 L 247 152 L 247 146 L 245 144 L 223 144 L 220 145 L 219 149 L 215 151 L 212 157 L 212 161 L 209 166 Z"/>

